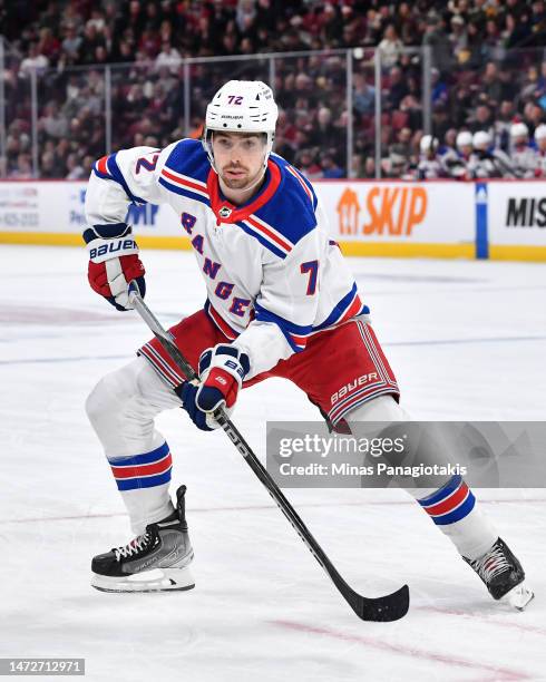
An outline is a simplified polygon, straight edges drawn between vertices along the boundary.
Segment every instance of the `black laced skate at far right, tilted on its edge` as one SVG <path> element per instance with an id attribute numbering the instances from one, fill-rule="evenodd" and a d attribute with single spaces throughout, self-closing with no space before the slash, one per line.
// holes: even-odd
<path id="1" fill-rule="evenodd" d="M 476 571 L 494 600 L 503 600 L 523 611 L 535 596 L 524 583 L 521 564 L 500 537 L 484 556 L 475 561 L 462 558 Z"/>

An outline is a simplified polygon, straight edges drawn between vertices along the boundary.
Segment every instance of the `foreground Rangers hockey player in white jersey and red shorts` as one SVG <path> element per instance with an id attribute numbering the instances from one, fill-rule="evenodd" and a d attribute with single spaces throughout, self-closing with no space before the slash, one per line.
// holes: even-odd
<path id="1" fill-rule="evenodd" d="M 260 81 L 232 80 L 206 110 L 203 140 L 163 150 L 136 147 L 100 158 L 86 198 L 84 237 L 91 288 L 118 310 L 127 283 L 145 292 L 145 270 L 126 220 L 130 202 L 169 204 L 204 276 L 204 309 L 170 329 L 198 370 L 189 383 L 156 340 L 101 379 L 87 412 L 126 504 L 135 539 L 92 559 L 92 585 L 108 592 L 194 586 L 184 493 L 173 506 L 172 457 L 154 419 L 183 407 L 203 430 L 240 390 L 269 377 L 293 381 L 332 427 L 400 421 L 394 374 L 369 323 L 369 309 L 335 242 L 313 186 L 272 154 L 277 107 Z M 320 368 L 320 372 L 316 372 Z M 354 378 L 365 377 L 364 382 Z M 347 387 L 340 399 L 340 389 Z M 338 399 L 334 400 L 333 396 Z M 523 607 L 524 571 L 455 476 L 413 490 L 495 598 Z"/>

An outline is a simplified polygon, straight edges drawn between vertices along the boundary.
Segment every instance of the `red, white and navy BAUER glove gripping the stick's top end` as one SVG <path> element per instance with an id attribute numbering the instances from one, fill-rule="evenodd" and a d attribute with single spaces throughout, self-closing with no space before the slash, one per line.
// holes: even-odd
<path id="1" fill-rule="evenodd" d="M 84 232 L 84 240 L 89 251 L 87 276 L 91 289 L 117 310 L 133 310 L 127 293 L 128 283 L 135 280 L 144 298 L 146 271 L 138 257 L 138 246 L 131 236 L 130 225 L 94 225 Z"/>

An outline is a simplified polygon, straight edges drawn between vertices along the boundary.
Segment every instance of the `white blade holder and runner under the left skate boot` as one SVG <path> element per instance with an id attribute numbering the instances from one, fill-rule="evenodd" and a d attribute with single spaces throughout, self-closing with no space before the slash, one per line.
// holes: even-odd
<path id="1" fill-rule="evenodd" d="M 91 587 L 99 592 L 170 592 L 193 590 L 195 581 L 188 568 L 154 568 L 128 576 L 94 573 Z"/>

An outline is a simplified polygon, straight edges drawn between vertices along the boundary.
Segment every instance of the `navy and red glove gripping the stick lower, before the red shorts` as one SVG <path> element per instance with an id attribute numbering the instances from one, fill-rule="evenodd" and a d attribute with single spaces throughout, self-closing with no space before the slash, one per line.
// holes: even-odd
<path id="1" fill-rule="evenodd" d="M 213 417 L 220 406 L 224 406 L 227 416 L 232 413 L 250 369 L 248 355 L 234 345 L 218 344 L 202 353 L 198 383 L 185 381 L 176 389 L 198 429 L 212 431 L 220 427 Z"/>

